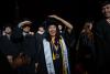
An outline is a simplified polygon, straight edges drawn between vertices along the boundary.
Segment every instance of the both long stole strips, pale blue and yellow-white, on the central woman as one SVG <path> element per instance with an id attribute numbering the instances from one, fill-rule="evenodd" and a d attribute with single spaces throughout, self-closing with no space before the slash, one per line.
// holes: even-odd
<path id="1" fill-rule="evenodd" d="M 59 39 L 59 44 L 61 44 L 62 57 L 63 57 L 63 74 L 70 74 L 67 46 L 66 46 L 63 38 Z M 55 56 L 53 56 L 54 54 L 51 51 L 51 44 L 46 39 L 44 39 L 43 45 L 44 45 L 44 54 L 45 54 L 47 72 L 48 72 L 48 74 L 55 74 L 55 68 L 54 68 L 54 64 L 53 64 L 53 60 L 55 60 Z"/>

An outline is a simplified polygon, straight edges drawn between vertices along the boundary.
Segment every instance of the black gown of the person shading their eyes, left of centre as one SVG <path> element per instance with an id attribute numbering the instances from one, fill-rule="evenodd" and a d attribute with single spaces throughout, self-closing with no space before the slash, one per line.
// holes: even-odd
<path id="1" fill-rule="evenodd" d="M 35 74 L 35 63 L 37 62 L 36 50 L 37 46 L 35 36 L 31 34 L 23 36 L 20 52 L 31 59 L 31 62 L 29 65 L 24 65 L 19 68 L 21 74 Z"/>

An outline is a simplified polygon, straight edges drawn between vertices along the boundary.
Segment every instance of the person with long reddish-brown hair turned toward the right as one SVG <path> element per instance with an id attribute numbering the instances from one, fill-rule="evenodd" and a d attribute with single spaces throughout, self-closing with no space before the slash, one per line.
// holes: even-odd
<path id="1" fill-rule="evenodd" d="M 79 35 L 78 57 L 81 62 L 85 72 L 88 74 L 95 73 L 96 49 L 92 33 L 92 21 L 86 21 Z"/>

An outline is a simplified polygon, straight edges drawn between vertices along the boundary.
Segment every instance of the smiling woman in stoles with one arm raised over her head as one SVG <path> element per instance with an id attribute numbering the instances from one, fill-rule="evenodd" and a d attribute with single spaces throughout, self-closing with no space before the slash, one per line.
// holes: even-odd
<path id="1" fill-rule="evenodd" d="M 68 29 L 73 29 L 72 24 L 57 15 L 50 15 L 63 22 Z M 55 20 L 46 20 L 47 34 L 43 39 L 43 45 L 40 52 L 38 74 L 70 74 L 68 62 L 68 47 L 66 40 L 59 34 L 59 30 Z"/>

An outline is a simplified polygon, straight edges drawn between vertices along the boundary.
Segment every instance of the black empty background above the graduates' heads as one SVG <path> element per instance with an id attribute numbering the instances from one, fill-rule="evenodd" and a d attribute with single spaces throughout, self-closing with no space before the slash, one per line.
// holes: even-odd
<path id="1" fill-rule="evenodd" d="M 50 14 L 57 14 L 81 28 L 85 19 L 99 20 L 99 0 L 0 0 L 0 27 L 29 18 L 38 24 Z"/>

